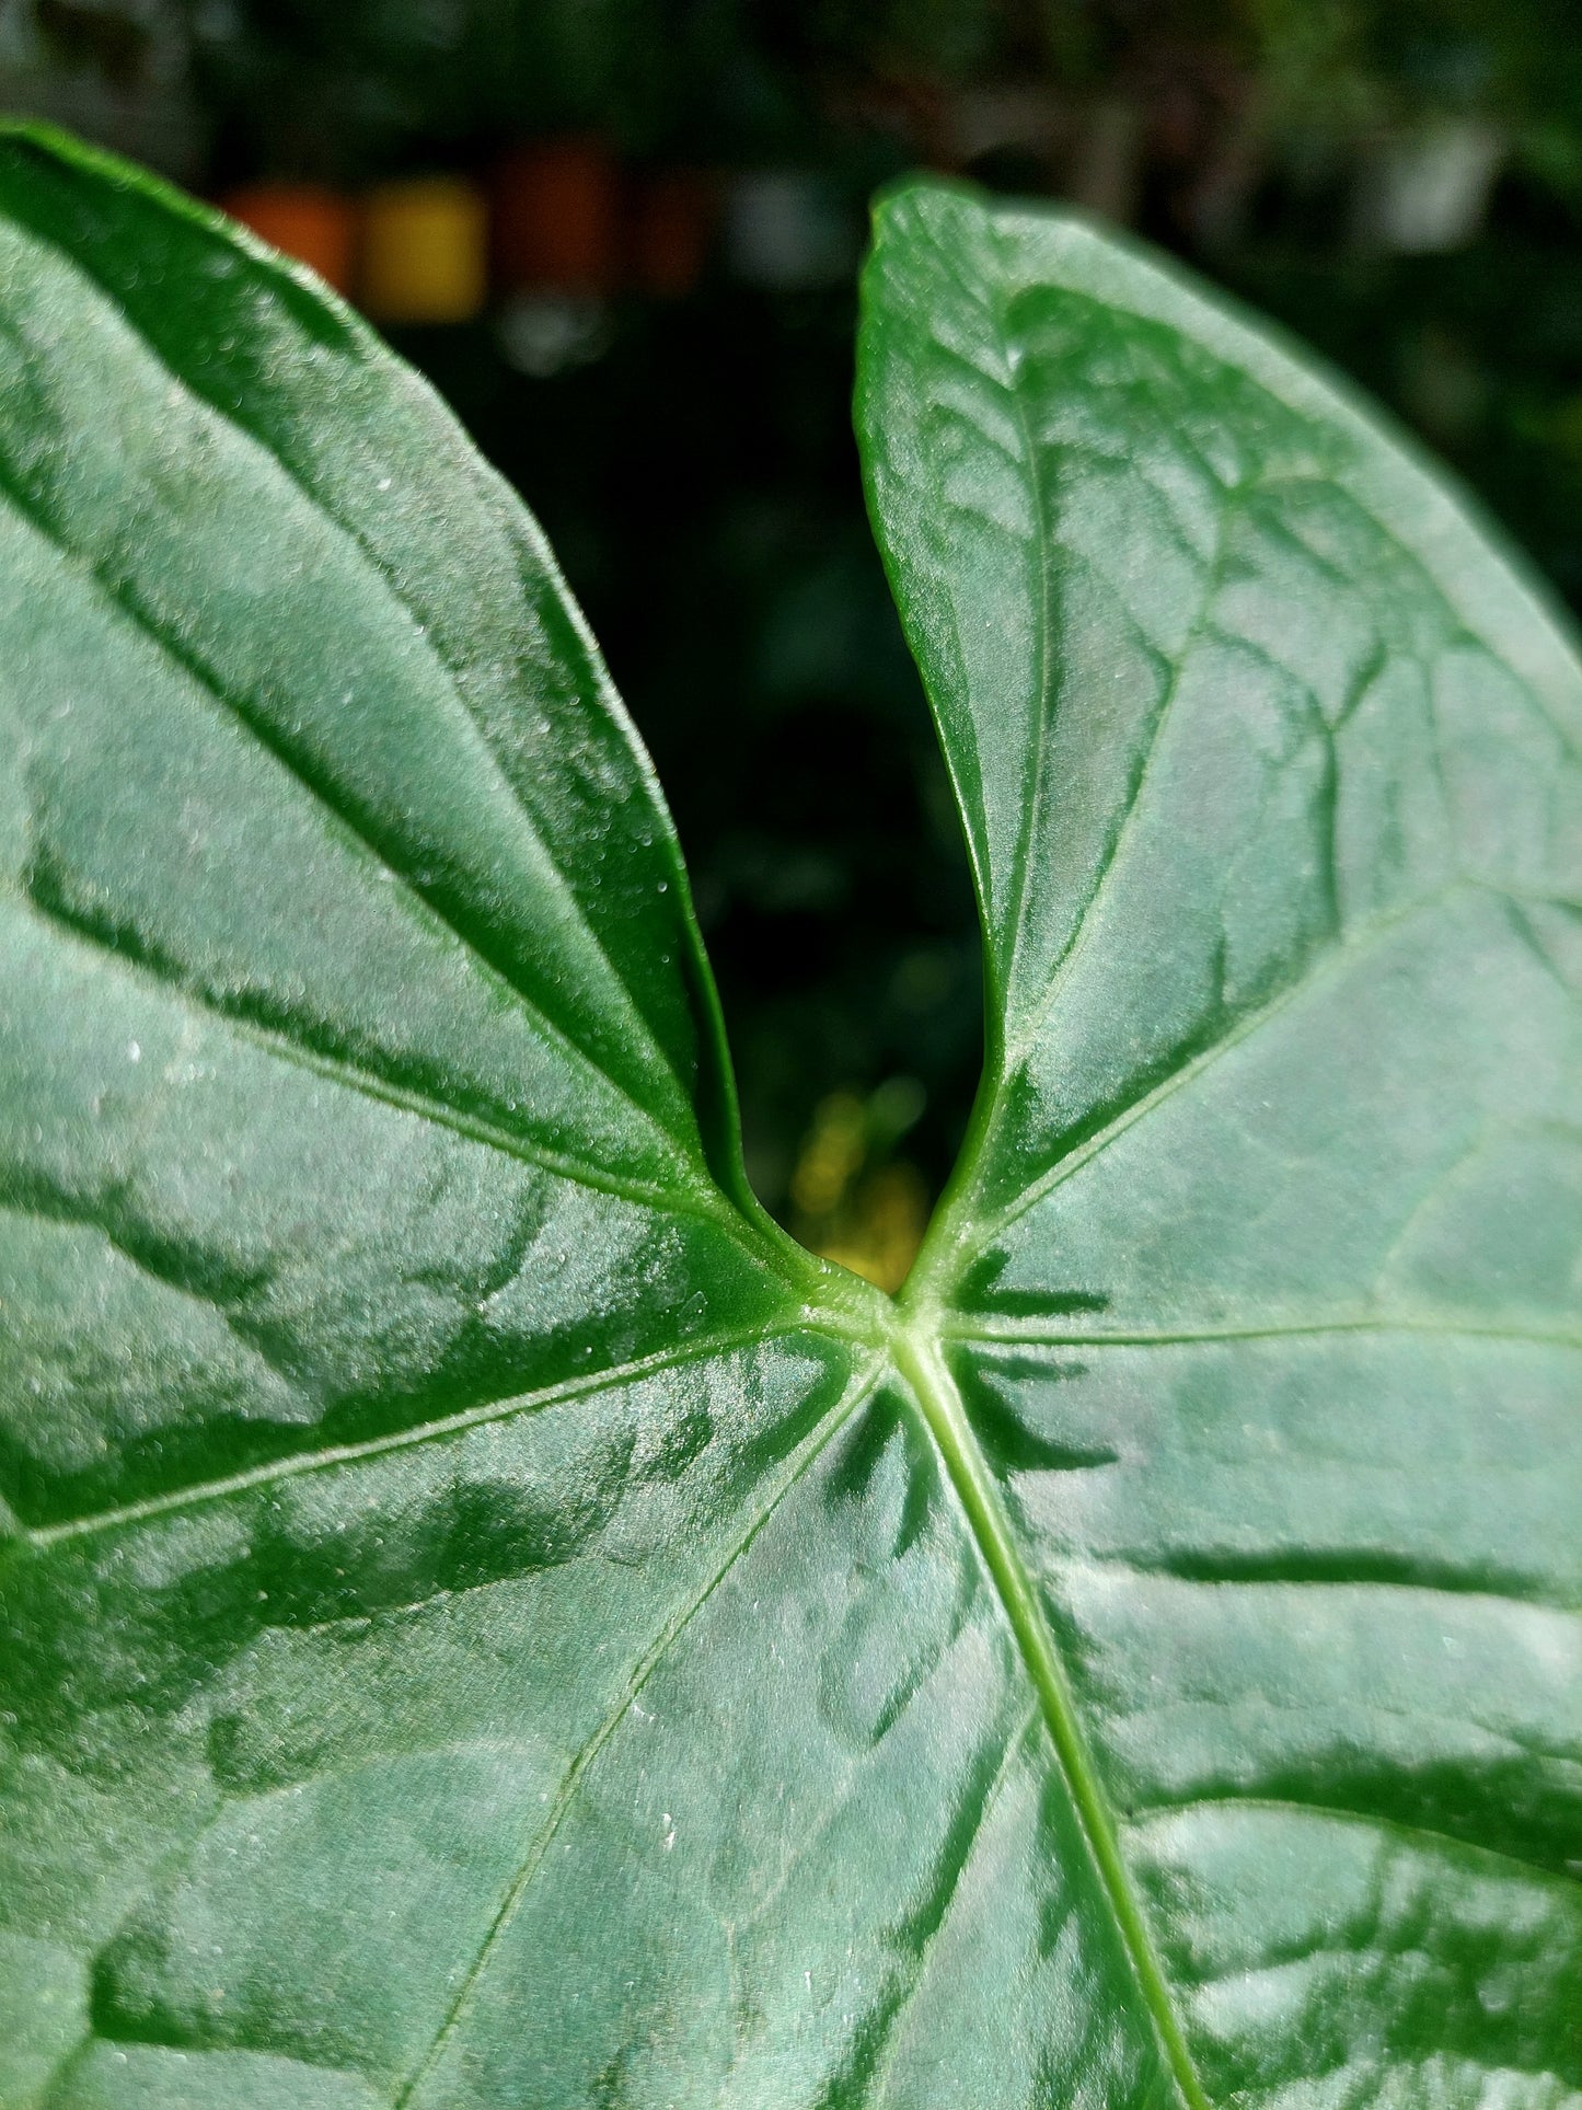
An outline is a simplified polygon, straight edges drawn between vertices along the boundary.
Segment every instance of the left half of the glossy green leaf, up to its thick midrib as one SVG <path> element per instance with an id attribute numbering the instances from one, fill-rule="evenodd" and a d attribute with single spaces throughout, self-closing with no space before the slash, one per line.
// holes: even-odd
<path id="1" fill-rule="evenodd" d="M 133 171 L 0 241 L 0 2104 L 1169 2102 L 532 521 Z"/>

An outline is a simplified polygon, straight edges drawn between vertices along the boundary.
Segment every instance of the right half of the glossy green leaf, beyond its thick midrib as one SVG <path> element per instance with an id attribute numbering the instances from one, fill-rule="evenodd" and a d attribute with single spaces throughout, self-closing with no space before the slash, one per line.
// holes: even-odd
<path id="1" fill-rule="evenodd" d="M 1582 2089 L 1582 675 L 1331 386 L 924 188 L 880 538 L 1000 1021 L 913 1279 L 1219 2102 Z"/>

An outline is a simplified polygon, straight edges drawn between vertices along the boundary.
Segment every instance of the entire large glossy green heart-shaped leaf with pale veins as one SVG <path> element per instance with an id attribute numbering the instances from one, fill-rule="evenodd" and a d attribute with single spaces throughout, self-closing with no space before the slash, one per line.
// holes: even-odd
<path id="1" fill-rule="evenodd" d="M 0 2110 L 1582 2104 L 1582 671 L 1080 226 L 880 211 L 985 920 L 899 1304 L 369 333 L 0 150 Z"/>

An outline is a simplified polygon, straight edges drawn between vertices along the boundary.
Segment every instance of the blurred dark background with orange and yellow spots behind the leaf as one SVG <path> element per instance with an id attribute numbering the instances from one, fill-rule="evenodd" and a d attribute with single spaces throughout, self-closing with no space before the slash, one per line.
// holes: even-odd
<path id="1" fill-rule="evenodd" d="M 544 521 L 664 779 L 749 1165 L 899 1281 L 979 1066 L 850 437 L 867 198 L 1076 200 L 1377 392 L 1582 606 L 1567 0 L 0 0 L 0 106 L 226 203 Z"/>

